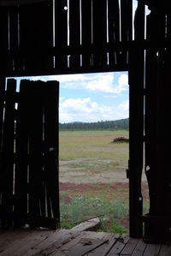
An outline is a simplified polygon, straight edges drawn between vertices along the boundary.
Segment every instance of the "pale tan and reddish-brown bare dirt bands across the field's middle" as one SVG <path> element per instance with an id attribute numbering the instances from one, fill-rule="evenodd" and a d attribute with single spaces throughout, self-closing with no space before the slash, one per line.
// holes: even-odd
<path id="1" fill-rule="evenodd" d="M 121 196 L 128 201 L 129 180 L 126 171 L 123 170 L 105 170 L 89 171 L 85 168 L 75 168 L 75 164 L 82 163 L 83 159 L 60 161 L 60 191 L 66 193 L 66 203 L 72 196 L 87 195 L 115 199 Z M 105 160 L 107 161 L 107 160 Z M 74 164 L 74 168 L 70 167 Z M 148 185 L 146 177 L 142 176 L 142 191 L 144 199 L 148 199 Z"/>

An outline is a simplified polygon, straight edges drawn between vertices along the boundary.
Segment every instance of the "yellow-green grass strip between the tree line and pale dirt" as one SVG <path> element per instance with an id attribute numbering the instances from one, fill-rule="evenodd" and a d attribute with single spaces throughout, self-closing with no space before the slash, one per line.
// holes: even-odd
<path id="1" fill-rule="evenodd" d="M 62 131 L 60 160 L 79 158 L 119 158 L 127 162 L 128 144 L 111 143 L 116 137 L 128 137 L 127 131 Z"/>

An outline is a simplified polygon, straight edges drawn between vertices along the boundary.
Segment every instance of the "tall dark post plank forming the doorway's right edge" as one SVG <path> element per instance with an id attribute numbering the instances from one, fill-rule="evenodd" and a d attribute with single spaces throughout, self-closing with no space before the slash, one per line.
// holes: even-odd
<path id="1" fill-rule="evenodd" d="M 141 176 L 144 159 L 144 50 L 139 45 L 144 39 L 144 4 L 142 3 L 138 5 L 134 27 L 137 47 L 130 51 L 129 66 L 129 221 L 130 235 L 140 237 L 143 210 Z"/>

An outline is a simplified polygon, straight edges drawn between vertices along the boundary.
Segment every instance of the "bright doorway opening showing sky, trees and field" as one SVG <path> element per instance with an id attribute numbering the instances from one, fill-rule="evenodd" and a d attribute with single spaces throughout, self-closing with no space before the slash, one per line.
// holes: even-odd
<path id="1" fill-rule="evenodd" d="M 99 230 L 128 233 L 127 72 L 67 74 L 29 79 L 60 82 L 61 227 L 71 229 L 85 220 L 98 217 Z M 142 190 L 146 212 L 148 186 L 144 174 Z"/>

